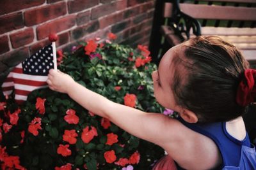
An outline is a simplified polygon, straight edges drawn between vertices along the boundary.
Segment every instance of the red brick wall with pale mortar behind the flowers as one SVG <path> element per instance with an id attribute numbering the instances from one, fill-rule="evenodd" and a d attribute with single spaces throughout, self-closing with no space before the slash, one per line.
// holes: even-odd
<path id="1" fill-rule="evenodd" d="M 1 0 L 0 84 L 10 69 L 49 43 L 69 50 L 77 41 L 104 38 L 148 45 L 155 0 Z"/>

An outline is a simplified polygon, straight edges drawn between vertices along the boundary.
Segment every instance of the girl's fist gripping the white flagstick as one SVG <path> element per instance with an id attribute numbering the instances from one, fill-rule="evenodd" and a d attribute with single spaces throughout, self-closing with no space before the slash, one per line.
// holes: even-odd
<path id="1" fill-rule="evenodd" d="M 47 83 L 51 90 L 67 93 L 74 82 L 68 74 L 62 73 L 60 70 L 50 69 L 49 71 Z"/>

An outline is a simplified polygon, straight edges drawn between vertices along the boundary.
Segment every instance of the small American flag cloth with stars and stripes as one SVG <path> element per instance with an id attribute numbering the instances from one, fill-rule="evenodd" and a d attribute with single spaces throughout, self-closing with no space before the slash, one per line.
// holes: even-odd
<path id="1" fill-rule="evenodd" d="M 47 74 L 49 69 L 54 67 L 53 48 L 55 43 L 45 46 L 18 64 L 4 80 L 2 85 L 4 96 L 9 96 L 14 90 L 15 101 L 22 104 L 31 91 L 47 87 Z"/>

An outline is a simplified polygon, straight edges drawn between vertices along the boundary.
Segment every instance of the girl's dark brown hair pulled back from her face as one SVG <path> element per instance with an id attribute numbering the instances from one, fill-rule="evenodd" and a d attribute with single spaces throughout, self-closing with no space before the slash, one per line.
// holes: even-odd
<path id="1" fill-rule="evenodd" d="M 172 62 L 176 103 L 193 111 L 200 122 L 224 122 L 243 115 L 246 107 L 236 103 L 236 91 L 249 64 L 236 46 L 217 36 L 198 36 L 183 47 L 184 56 Z"/>

